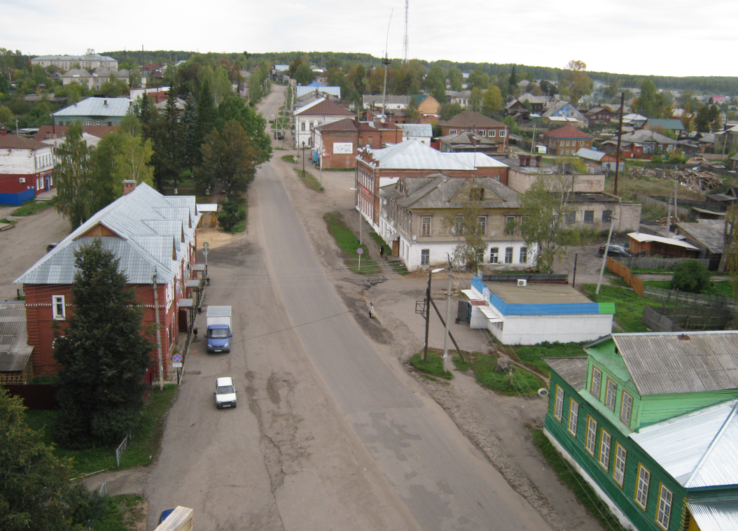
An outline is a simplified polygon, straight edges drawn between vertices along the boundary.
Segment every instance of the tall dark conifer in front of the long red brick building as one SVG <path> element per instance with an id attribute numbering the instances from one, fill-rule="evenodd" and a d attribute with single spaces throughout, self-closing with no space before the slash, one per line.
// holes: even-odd
<path id="1" fill-rule="evenodd" d="M 75 251 L 75 268 L 75 309 L 66 326 L 55 327 L 58 436 L 69 448 L 111 446 L 138 419 L 154 345 L 141 333 L 143 309 L 120 259 L 102 240 Z"/>

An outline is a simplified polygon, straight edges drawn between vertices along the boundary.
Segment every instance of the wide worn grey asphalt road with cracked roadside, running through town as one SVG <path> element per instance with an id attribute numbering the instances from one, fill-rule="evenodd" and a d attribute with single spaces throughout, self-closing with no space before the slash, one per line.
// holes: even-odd
<path id="1" fill-rule="evenodd" d="M 550 530 L 359 327 L 284 178 L 294 173 L 265 164 L 249 234 L 208 256 L 205 304 L 233 306 L 233 349 L 207 355 L 200 340 L 187 360 L 150 476 L 149 529 L 181 504 L 197 530 Z M 235 410 L 213 405 L 221 375 L 235 378 Z"/>

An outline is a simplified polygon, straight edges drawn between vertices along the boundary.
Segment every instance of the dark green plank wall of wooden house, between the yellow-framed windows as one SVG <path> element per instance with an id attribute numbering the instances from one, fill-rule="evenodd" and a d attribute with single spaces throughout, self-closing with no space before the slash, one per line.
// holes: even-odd
<path id="1" fill-rule="evenodd" d="M 554 408 L 556 404 L 556 386 L 560 386 L 565 393 L 564 409 L 562 411 L 562 420 L 559 422 L 554 417 Z M 582 391 L 582 394 L 589 393 Z M 589 395 L 591 398 L 591 395 Z M 573 398 L 579 403 L 579 422 L 576 428 L 576 437 L 568 431 L 568 418 L 570 409 L 570 399 Z M 590 477 L 599 485 L 599 487 L 607 493 L 607 496 L 620 507 L 621 511 L 630 518 L 635 527 L 639 531 L 653 530 L 663 531 L 656 523 L 655 516 L 658 510 L 658 490 L 659 484 L 663 483 L 672 491 L 672 513 L 669 522 L 668 531 L 681 531 L 683 523 L 683 511 L 686 504 L 686 489 L 679 485 L 672 476 L 661 468 L 658 463 L 651 459 L 640 446 L 634 441 L 626 437 L 620 428 L 613 424 L 607 417 L 602 415 L 598 408 L 594 407 L 584 396 L 576 392 L 566 381 L 563 380 L 556 372 L 551 371 L 551 393 L 548 400 L 548 413 L 546 414 L 545 426 L 548 431 L 556 438 L 559 444 L 568 451 L 571 457 L 584 468 Z M 597 422 L 597 438 L 595 455 L 590 455 L 585 449 L 585 441 L 587 437 L 587 416 L 591 416 Z M 618 422 L 619 423 L 619 422 Z M 620 423 L 621 424 L 621 423 Z M 608 470 L 599 465 L 599 448 L 601 443 L 601 430 L 610 433 L 612 436 L 610 461 Z M 613 479 L 613 468 L 615 466 L 615 444 L 618 443 L 627 451 L 624 482 L 621 487 Z M 649 481 L 648 499 L 646 510 L 641 509 L 635 503 L 635 489 L 638 482 L 638 464 L 643 464 L 651 474 Z"/>

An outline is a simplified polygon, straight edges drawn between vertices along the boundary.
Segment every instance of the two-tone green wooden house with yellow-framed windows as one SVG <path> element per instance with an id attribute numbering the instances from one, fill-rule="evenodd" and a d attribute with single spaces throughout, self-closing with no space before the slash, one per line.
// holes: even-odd
<path id="1" fill-rule="evenodd" d="M 738 332 L 618 333 L 547 358 L 545 433 L 622 524 L 738 530 Z"/>

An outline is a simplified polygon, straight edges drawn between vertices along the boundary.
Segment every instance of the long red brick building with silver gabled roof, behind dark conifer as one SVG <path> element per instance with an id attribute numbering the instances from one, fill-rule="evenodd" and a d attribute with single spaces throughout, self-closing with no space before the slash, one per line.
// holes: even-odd
<path id="1" fill-rule="evenodd" d="M 146 184 L 125 181 L 129 193 L 97 212 L 64 238 L 28 271 L 15 280 L 26 296 L 28 344 L 33 347 L 33 374 L 58 372 L 53 358 L 52 325 L 63 324 L 74 312 L 72 279 L 74 251 L 100 238 L 103 247 L 120 259 L 129 287 L 145 308 L 143 327 L 156 323 L 159 313 L 165 374 L 177 333 L 187 330 L 185 282 L 195 276 L 196 227 L 201 214 L 194 196 L 165 196 Z M 159 306 L 154 304 L 152 279 L 156 277 Z M 151 353 L 151 376 L 158 375 L 156 349 Z"/>

